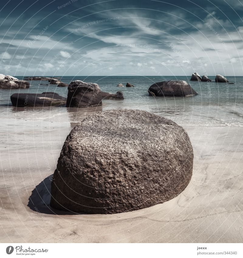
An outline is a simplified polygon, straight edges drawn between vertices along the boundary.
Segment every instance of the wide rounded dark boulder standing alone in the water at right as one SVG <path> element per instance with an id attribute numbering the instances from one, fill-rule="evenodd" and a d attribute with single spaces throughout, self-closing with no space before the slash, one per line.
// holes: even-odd
<path id="1" fill-rule="evenodd" d="M 159 97 L 189 97 L 197 95 L 186 81 L 162 81 L 149 87 L 149 96 Z"/>

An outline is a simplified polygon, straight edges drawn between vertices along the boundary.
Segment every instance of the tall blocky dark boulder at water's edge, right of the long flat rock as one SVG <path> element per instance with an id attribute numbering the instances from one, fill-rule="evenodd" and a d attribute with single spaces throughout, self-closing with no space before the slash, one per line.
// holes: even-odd
<path id="1" fill-rule="evenodd" d="M 87 108 L 101 105 L 101 89 L 98 84 L 72 81 L 68 85 L 67 107 Z"/>

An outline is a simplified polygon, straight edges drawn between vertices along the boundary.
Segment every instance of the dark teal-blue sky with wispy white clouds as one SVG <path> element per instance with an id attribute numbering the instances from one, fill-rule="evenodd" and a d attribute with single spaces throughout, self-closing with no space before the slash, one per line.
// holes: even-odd
<path id="1" fill-rule="evenodd" d="M 243 0 L 65 1 L 1 0 L 0 74 L 243 76 Z"/>

